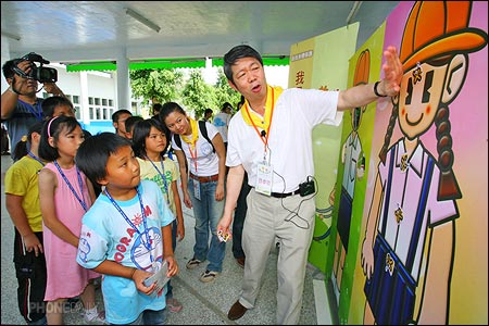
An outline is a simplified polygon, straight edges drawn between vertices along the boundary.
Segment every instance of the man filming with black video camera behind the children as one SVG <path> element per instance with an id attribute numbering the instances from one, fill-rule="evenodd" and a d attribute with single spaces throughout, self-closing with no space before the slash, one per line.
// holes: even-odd
<path id="1" fill-rule="evenodd" d="M 35 62 L 39 62 L 40 66 Z M 40 90 L 38 90 L 39 83 L 43 84 L 48 93 L 64 97 L 55 85 L 58 78 L 55 70 L 42 67 L 43 63 L 49 61 L 29 53 L 22 59 L 9 60 L 2 66 L 3 76 L 10 87 L 2 93 L 1 120 L 7 125 L 12 148 L 22 136 L 27 135 L 32 125 L 42 120 L 42 98 L 36 96 Z"/>

